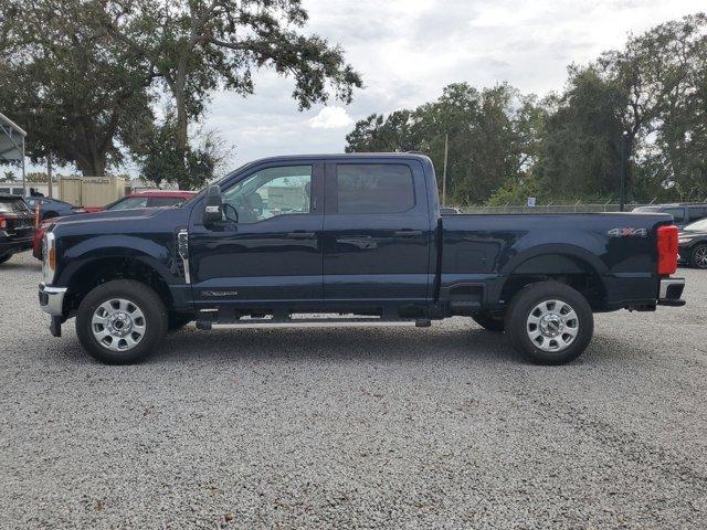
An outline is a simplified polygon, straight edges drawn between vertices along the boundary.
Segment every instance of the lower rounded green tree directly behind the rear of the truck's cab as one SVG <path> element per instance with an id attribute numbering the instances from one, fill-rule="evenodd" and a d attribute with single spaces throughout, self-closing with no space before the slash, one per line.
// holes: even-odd
<path id="1" fill-rule="evenodd" d="M 534 97 L 508 85 L 478 91 L 456 83 L 414 110 L 360 120 L 346 137 L 346 150 L 420 150 L 440 170 L 449 135 L 447 195 L 458 204 L 482 203 L 535 159 L 536 107 Z"/>

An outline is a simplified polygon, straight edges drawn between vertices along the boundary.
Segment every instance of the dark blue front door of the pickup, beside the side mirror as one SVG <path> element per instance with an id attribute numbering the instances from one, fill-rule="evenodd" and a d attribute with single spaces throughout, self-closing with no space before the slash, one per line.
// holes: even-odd
<path id="1" fill-rule="evenodd" d="M 210 230 L 192 214 L 198 308 L 323 299 L 323 163 L 266 165 L 221 190 L 226 214 L 238 222 Z"/>

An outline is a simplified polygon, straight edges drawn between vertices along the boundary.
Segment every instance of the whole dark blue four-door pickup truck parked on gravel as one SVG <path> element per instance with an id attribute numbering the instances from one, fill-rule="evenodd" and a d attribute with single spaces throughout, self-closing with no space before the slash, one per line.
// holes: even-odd
<path id="1" fill-rule="evenodd" d="M 593 312 L 679 306 L 666 214 L 441 215 L 429 158 L 258 160 L 177 208 L 76 215 L 45 235 L 40 304 L 109 363 L 189 321 L 430 326 L 471 317 L 534 362 L 589 344 Z"/>

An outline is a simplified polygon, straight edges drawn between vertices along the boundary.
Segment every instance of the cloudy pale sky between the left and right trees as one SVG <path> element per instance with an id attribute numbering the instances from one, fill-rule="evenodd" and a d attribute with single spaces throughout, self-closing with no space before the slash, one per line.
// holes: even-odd
<path id="1" fill-rule="evenodd" d="M 294 84 L 255 76 L 255 95 L 217 93 L 204 120 L 233 167 L 275 156 L 342 152 L 356 120 L 435 99 L 455 82 L 561 89 L 570 63 L 621 47 L 630 33 L 707 8 L 704 0 L 305 0 L 306 32 L 340 44 L 363 77 L 345 106 L 299 113 Z"/>

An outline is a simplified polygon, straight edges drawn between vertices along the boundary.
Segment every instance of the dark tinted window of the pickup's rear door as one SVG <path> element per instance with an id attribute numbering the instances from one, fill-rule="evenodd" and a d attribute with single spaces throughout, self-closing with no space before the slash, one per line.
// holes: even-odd
<path id="1" fill-rule="evenodd" d="M 339 213 L 401 213 L 415 205 L 408 166 L 345 163 L 336 169 Z"/>

